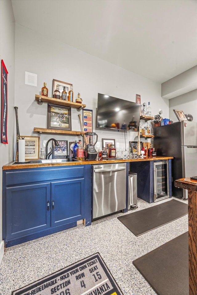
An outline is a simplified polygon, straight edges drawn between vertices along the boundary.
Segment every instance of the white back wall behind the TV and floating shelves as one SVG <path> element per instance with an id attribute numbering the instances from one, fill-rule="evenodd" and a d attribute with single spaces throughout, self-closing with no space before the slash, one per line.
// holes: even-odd
<path id="1" fill-rule="evenodd" d="M 65 37 L 66 32 L 62 38 Z M 25 71 L 38 75 L 37 87 L 25 85 Z M 163 117 L 169 117 L 169 101 L 161 97 L 159 83 L 65 45 L 52 37 L 48 38 L 44 32 L 38 34 L 18 24 L 15 73 L 15 105 L 18 106 L 20 135 L 38 136 L 33 132 L 34 127 L 47 127 L 47 104 L 39 106 L 35 101 L 35 94 L 40 94 L 43 83 L 46 82 L 48 96 L 52 97 L 53 79 L 72 83 L 74 99 L 80 92 L 83 104 L 86 104 L 87 109 L 93 110 L 93 131 L 98 134 L 100 143 L 102 138 L 112 138 L 120 143 L 120 147 L 124 147 L 124 133 L 95 130 L 98 92 L 131 101 L 136 100 L 136 93 L 140 94 L 142 103 L 148 104 L 150 101 L 153 114 L 158 114 L 160 108 L 163 110 Z M 81 131 L 78 114 L 76 109 L 71 110 L 72 130 L 75 131 Z M 135 140 L 137 132 L 125 133 L 129 146 L 129 140 Z M 68 141 L 78 139 L 77 136 L 42 134 L 40 148 L 43 140 L 51 137 Z"/>

